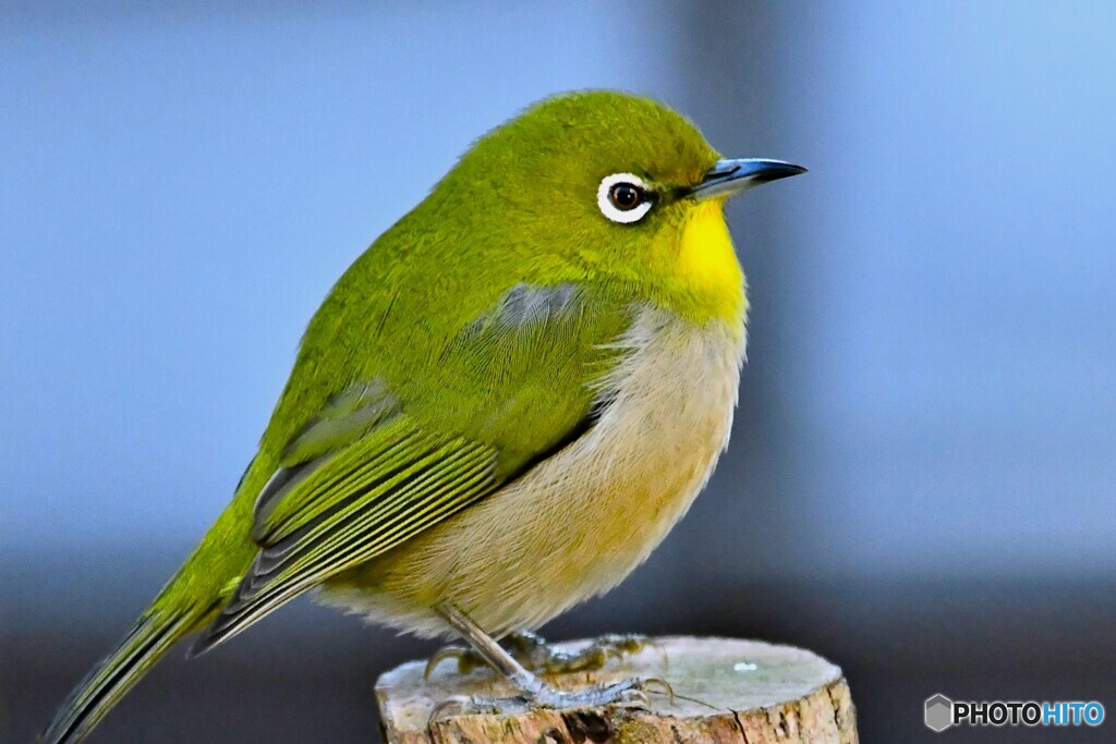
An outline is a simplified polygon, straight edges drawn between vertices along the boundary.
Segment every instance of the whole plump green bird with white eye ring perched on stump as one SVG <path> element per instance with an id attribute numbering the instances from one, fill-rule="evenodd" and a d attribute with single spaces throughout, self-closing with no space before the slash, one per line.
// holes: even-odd
<path id="1" fill-rule="evenodd" d="M 532 705 L 638 688 L 559 692 L 493 639 L 616 586 L 701 491 L 745 341 L 723 205 L 801 172 L 613 91 L 479 139 L 334 286 L 232 502 L 44 741 L 314 589 L 464 637 Z"/>

